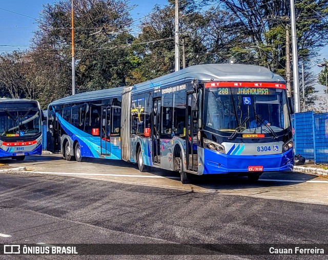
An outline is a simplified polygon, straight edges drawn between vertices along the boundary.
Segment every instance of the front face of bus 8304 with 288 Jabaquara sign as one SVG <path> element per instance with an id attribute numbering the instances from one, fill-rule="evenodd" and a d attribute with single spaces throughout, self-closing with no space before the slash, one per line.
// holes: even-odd
<path id="1" fill-rule="evenodd" d="M 263 172 L 293 171 L 284 84 L 209 82 L 204 92 L 200 173 L 258 178 Z"/>

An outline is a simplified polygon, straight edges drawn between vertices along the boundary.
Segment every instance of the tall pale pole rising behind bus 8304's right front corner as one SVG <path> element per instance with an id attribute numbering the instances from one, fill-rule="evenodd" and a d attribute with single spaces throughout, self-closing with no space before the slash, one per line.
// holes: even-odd
<path id="1" fill-rule="evenodd" d="M 296 39 L 294 0 L 290 0 L 290 3 L 291 3 L 291 21 L 292 21 L 293 82 L 294 82 L 295 112 L 298 113 L 300 111 L 300 104 L 299 104 L 298 59 L 297 59 L 297 39 Z"/>

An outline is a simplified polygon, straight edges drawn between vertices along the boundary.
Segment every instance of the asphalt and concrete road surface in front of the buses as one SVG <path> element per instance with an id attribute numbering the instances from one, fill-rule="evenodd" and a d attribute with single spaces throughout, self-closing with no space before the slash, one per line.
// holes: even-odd
<path id="1" fill-rule="evenodd" d="M 306 182 L 324 179 L 295 173 L 288 176 L 262 176 L 264 181 L 258 183 L 248 182 L 244 178 L 196 178 L 195 184 L 182 185 L 174 173 L 152 171 L 143 174 L 154 178 L 138 177 L 140 173 L 131 165 L 103 161 L 101 164 L 97 161 L 78 164 L 61 160 L 58 156 L 42 156 L 28 158 L 15 165 L 25 165 L 36 172 L 47 170 L 58 174 L 61 171 L 66 175 L 34 172 L 0 174 L 0 234 L 11 236 L 0 235 L 0 243 L 217 244 L 327 241 L 326 198 L 318 196 L 316 199 L 316 196 L 320 191 L 321 194 L 326 193 L 328 183 Z M 68 175 L 92 172 L 95 175 L 107 173 L 134 177 Z M 293 180 L 297 182 L 290 182 Z M 266 192 L 261 192 L 263 190 Z M 282 198 L 278 198 L 279 191 Z M 298 200 L 302 202 L 295 202 Z M 44 257 L 20 256 L 19 259 Z M 325 259 L 325 256 L 110 256 L 110 259 L 157 258 Z"/>

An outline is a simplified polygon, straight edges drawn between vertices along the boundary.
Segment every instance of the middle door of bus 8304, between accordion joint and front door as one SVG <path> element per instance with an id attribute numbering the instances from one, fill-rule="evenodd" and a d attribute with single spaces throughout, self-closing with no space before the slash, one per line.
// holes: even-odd
<path id="1" fill-rule="evenodd" d="M 160 99 L 153 100 L 153 120 L 152 120 L 152 142 L 153 142 L 153 161 L 160 163 Z"/>

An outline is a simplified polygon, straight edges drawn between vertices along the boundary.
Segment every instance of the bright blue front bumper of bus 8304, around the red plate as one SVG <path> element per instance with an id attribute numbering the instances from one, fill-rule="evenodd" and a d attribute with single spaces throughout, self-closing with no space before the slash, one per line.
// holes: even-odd
<path id="1" fill-rule="evenodd" d="M 263 166 L 263 172 L 292 172 L 294 167 L 293 149 L 272 155 L 227 155 L 209 149 L 202 151 L 200 174 L 246 173 L 249 166 Z"/>

